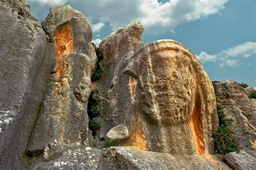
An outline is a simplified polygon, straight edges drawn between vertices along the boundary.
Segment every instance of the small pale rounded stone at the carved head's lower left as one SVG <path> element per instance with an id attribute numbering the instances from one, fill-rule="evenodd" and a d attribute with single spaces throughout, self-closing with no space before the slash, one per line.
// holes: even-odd
<path id="1" fill-rule="evenodd" d="M 125 127 L 124 125 L 118 125 L 111 128 L 111 130 L 107 132 L 106 137 L 107 137 L 107 140 L 109 140 L 114 144 L 126 139 L 128 135 L 129 135 L 129 131 L 127 127 Z"/>

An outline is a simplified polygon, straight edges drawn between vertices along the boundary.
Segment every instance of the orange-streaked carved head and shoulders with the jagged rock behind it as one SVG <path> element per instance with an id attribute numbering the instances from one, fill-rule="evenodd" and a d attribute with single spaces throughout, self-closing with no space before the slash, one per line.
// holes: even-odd
<path id="1" fill-rule="evenodd" d="M 211 81 L 185 46 L 174 40 L 143 44 L 143 30 L 132 23 L 99 46 L 105 52 L 104 76 L 95 87 L 102 98 L 102 135 L 122 124 L 129 138 L 120 146 L 213 153 L 211 132 L 218 118 Z"/>

